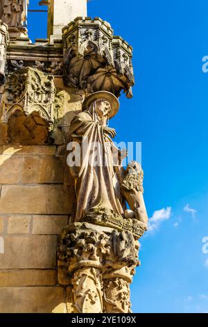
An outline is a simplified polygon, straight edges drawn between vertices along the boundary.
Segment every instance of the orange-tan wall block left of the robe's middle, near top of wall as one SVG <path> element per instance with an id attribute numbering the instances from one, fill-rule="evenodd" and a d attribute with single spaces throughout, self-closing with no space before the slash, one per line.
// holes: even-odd
<path id="1" fill-rule="evenodd" d="M 21 182 L 24 184 L 62 183 L 62 163 L 55 157 L 24 157 Z"/>

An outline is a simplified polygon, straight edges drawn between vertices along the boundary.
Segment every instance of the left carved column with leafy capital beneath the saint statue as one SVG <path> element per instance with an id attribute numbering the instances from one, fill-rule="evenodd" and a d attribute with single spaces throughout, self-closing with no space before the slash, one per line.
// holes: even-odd
<path id="1" fill-rule="evenodd" d="M 73 312 L 103 312 L 102 264 L 107 235 L 96 226 L 74 223 L 60 237 L 58 259 L 72 276 Z"/>

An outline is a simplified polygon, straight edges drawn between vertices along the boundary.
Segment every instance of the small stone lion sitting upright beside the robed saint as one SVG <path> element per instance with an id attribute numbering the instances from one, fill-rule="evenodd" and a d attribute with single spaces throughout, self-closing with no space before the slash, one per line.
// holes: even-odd
<path id="1" fill-rule="evenodd" d="M 143 189 L 144 172 L 137 161 L 132 161 L 123 172 L 121 192 L 130 206 L 125 211 L 125 218 L 135 218 L 141 226 L 147 228 L 148 215 L 144 203 Z"/>

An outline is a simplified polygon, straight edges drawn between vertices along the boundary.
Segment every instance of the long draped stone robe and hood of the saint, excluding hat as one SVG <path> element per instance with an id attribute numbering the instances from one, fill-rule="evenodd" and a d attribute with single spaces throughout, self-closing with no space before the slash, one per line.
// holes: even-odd
<path id="1" fill-rule="evenodd" d="M 118 155 L 112 140 L 103 134 L 95 104 L 89 111 L 78 113 L 70 126 L 71 139 L 80 143 L 83 157 L 70 168 L 75 179 L 77 199 L 76 221 L 92 208 L 112 209 L 123 216 L 123 200 L 120 193 L 119 165 L 114 166 Z M 93 165 L 94 160 L 98 163 Z"/>

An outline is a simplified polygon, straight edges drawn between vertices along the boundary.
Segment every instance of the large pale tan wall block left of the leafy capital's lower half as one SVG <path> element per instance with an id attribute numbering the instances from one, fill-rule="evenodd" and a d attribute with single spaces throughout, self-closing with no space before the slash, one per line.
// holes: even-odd
<path id="1" fill-rule="evenodd" d="M 55 268 L 56 237 L 6 236 L 5 253 L 0 254 L 1 269 Z"/>

